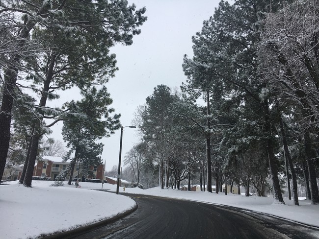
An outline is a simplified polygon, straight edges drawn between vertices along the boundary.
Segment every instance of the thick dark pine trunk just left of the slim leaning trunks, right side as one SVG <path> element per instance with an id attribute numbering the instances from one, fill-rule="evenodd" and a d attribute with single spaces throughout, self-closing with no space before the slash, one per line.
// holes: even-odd
<path id="1" fill-rule="evenodd" d="M 281 190 L 280 190 L 280 184 L 278 179 L 278 169 L 276 165 L 276 157 L 274 155 L 273 145 L 272 145 L 272 132 L 271 132 L 271 125 L 270 125 L 270 119 L 269 119 L 269 108 L 268 108 L 268 102 L 265 100 L 264 104 L 264 112 L 265 112 L 265 132 L 268 136 L 267 139 L 267 153 L 268 153 L 268 162 L 269 162 L 269 168 L 272 178 L 272 184 L 274 188 L 275 193 L 275 199 L 282 204 L 285 204 Z"/>

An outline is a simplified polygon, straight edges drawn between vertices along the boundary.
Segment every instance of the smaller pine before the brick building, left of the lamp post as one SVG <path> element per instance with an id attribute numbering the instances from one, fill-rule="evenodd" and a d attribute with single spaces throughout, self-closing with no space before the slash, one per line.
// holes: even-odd
<path id="1" fill-rule="evenodd" d="M 109 137 L 120 128 L 120 115 L 114 114 L 113 108 L 108 108 L 112 99 L 106 87 L 97 90 L 93 87 L 90 92 L 83 93 L 81 101 L 71 102 L 70 112 L 73 116 L 63 121 L 62 135 L 70 148 L 65 159 L 69 159 L 72 152 L 75 157 L 71 162 L 71 184 L 74 166 L 80 160 L 84 174 L 89 174 L 89 167 L 101 164 L 99 156 L 103 151 L 103 143 L 96 143 L 102 137 Z"/>

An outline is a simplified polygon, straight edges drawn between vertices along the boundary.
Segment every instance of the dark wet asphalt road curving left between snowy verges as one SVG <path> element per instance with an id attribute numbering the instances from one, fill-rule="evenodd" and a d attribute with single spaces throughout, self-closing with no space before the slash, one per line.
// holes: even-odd
<path id="1" fill-rule="evenodd" d="M 138 209 L 76 239 L 319 239 L 319 228 L 233 207 L 126 194 Z"/>

